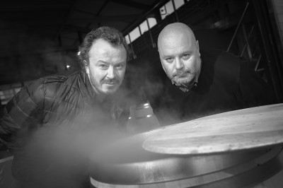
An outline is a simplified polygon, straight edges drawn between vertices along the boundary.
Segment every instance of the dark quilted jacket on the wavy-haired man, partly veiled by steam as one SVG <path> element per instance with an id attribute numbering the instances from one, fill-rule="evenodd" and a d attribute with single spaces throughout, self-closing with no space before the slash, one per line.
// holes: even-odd
<path id="1" fill-rule="evenodd" d="M 96 100 L 84 71 L 23 87 L 0 120 L 0 141 L 14 156 L 13 176 L 46 187 L 83 187 L 89 152 L 113 137 L 121 114 L 115 99 Z"/>

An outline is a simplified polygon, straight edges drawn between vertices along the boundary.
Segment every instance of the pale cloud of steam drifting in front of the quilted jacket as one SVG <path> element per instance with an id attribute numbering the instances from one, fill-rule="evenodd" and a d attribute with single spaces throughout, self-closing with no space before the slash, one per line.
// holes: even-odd
<path id="1" fill-rule="evenodd" d="M 103 115 L 99 108 L 84 112 L 76 119 L 52 120 L 57 121 L 34 132 L 24 151 L 29 158 L 31 156 L 31 161 L 40 164 L 35 167 L 37 170 L 50 175 L 50 183 L 66 182 L 65 177 L 71 177 L 68 181 L 73 183 L 81 182 L 91 168 L 91 155 L 127 136 L 125 130 Z"/>

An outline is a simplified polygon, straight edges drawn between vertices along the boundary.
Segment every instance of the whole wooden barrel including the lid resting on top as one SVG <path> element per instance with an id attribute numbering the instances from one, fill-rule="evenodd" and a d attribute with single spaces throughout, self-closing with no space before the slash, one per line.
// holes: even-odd
<path id="1" fill-rule="evenodd" d="M 132 136 L 93 156 L 91 184 L 282 187 L 282 112 L 282 104 L 236 110 Z"/>

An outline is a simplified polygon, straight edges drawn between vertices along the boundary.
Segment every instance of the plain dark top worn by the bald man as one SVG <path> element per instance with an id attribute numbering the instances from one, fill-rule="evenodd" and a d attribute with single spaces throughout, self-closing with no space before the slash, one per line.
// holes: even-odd
<path id="1" fill-rule="evenodd" d="M 219 50 L 200 53 L 196 87 L 184 93 L 168 79 L 163 102 L 156 109 L 163 125 L 275 102 L 272 88 L 247 61 Z"/>

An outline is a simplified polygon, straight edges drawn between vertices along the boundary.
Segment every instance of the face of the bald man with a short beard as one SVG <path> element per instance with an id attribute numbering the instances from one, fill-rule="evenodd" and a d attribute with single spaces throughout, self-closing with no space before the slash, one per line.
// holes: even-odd
<path id="1" fill-rule="evenodd" d="M 189 86 L 200 72 L 201 59 L 198 41 L 187 34 L 171 34 L 158 44 L 161 64 L 168 78 L 177 85 Z"/>

